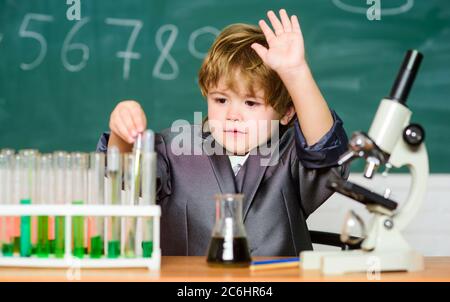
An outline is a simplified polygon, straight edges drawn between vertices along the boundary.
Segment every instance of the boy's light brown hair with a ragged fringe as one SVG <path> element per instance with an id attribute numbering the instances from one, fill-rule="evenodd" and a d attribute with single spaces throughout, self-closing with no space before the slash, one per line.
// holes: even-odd
<path id="1" fill-rule="evenodd" d="M 234 75 L 240 72 L 247 92 L 255 95 L 255 88 L 262 89 L 266 104 L 283 116 L 292 105 L 292 99 L 278 74 L 266 66 L 251 48 L 253 43 L 268 47 L 258 27 L 240 23 L 226 27 L 214 41 L 200 68 L 201 92 L 206 96 L 221 78 L 235 90 Z"/>

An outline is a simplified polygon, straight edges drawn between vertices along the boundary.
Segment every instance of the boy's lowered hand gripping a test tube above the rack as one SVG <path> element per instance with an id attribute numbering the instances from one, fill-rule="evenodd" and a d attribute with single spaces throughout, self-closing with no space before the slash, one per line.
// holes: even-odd
<path id="1" fill-rule="evenodd" d="M 122 101 L 117 104 L 109 119 L 112 135 L 117 135 L 132 144 L 138 133 L 147 127 L 147 119 L 141 105 L 136 101 Z"/>

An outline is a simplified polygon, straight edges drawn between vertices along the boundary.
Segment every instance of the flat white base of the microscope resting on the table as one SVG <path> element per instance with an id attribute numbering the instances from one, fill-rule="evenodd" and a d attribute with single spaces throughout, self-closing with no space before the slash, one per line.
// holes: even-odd
<path id="1" fill-rule="evenodd" d="M 300 254 L 303 270 L 321 270 L 324 275 L 345 273 L 376 273 L 387 271 L 420 271 L 424 268 L 423 256 L 416 251 L 341 252 L 307 251 Z"/>

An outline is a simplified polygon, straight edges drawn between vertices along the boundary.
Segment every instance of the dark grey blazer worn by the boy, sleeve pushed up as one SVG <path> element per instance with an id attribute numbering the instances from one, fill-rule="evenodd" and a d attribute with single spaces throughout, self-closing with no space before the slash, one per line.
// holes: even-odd
<path id="1" fill-rule="evenodd" d="M 336 164 L 348 140 L 342 120 L 332 113 L 333 127 L 312 146 L 306 144 L 296 120 L 271 144 L 278 143 L 278 153 L 251 152 L 241 168 L 242 188 L 228 156 L 210 154 L 211 148 L 205 147 L 218 144 L 200 125 L 182 126 L 190 136 L 184 135 L 184 143 L 180 127 L 156 134 L 162 254 L 206 255 L 215 223 L 214 195 L 236 192 L 244 194 L 243 220 L 252 256 L 298 256 L 311 250 L 306 219 L 333 194 L 327 180 L 348 177 L 348 168 Z M 98 151 L 106 152 L 108 138 L 108 133 L 102 135 Z"/>

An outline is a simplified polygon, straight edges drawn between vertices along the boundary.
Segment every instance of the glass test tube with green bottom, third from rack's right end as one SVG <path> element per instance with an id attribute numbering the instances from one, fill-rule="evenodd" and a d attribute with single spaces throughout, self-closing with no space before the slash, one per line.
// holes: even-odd
<path id="1" fill-rule="evenodd" d="M 115 146 L 108 149 L 107 155 L 107 184 L 108 198 L 110 205 L 120 205 L 122 195 L 122 158 L 119 149 Z M 110 216 L 107 218 L 108 232 L 108 258 L 118 258 L 120 256 L 120 236 L 121 218 Z"/>

